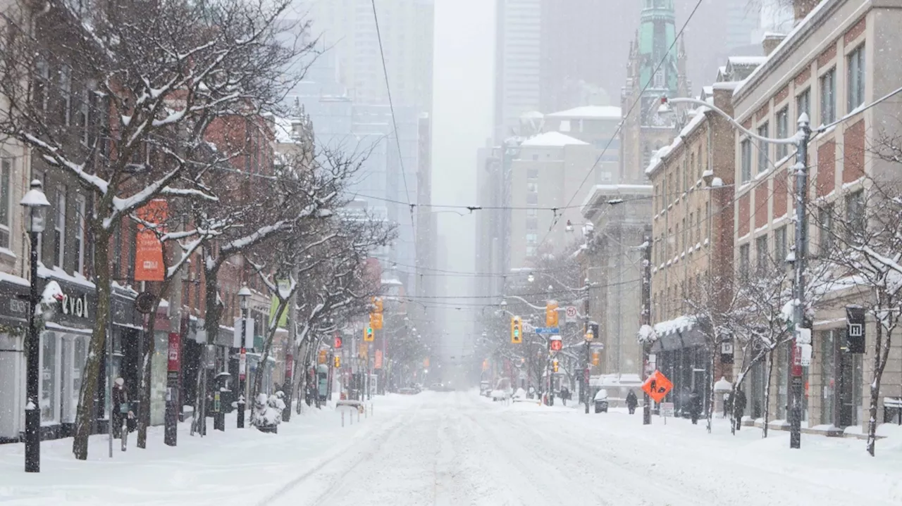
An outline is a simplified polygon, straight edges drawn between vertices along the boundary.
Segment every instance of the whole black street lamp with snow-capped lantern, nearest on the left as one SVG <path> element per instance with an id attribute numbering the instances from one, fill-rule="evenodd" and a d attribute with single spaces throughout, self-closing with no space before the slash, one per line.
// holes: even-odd
<path id="1" fill-rule="evenodd" d="M 41 410 L 38 408 L 38 382 L 39 370 L 38 351 L 41 345 L 38 338 L 38 329 L 34 321 L 38 301 L 38 234 L 44 231 L 46 221 L 44 211 L 50 207 L 47 195 L 44 194 L 43 185 L 38 179 L 32 181 L 32 187 L 25 192 L 20 204 L 26 210 L 25 230 L 28 231 L 32 241 L 32 291 L 28 299 L 28 342 L 25 346 L 27 353 L 25 373 L 25 472 L 41 472 Z"/>

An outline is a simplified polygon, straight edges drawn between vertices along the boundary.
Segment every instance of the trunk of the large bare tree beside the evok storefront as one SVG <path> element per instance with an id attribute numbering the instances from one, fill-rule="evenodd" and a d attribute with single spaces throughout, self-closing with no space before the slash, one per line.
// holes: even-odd
<path id="1" fill-rule="evenodd" d="M 92 227 L 97 248 L 94 253 L 94 271 L 96 273 L 95 294 L 97 294 L 97 312 L 94 314 L 95 325 L 91 332 L 91 341 L 87 348 L 85 370 L 81 375 L 81 390 L 78 393 L 78 411 L 75 415 L 75 433 L 72 438 L 72 453 L 78 460 L 87 459 L 87 438 L 94 426 L 94 401 L 97 394 L 97 381 L 100 377 L 100 363 L 106 357 L 106 331 L 110 311 L 110 266 L 109 230 L 96 224 Z M 106 371 L 106 374 L 111 374 Z M 112 416 L 110 423 L 112 423 Z"/>

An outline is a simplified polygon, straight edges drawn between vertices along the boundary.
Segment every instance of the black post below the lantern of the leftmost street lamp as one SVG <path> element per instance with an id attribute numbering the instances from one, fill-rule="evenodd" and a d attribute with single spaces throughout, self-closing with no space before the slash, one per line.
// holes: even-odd
<path id="1" fill-rule="evenodd" d="M 38 382 L 40 359 L 38 328 L 34 312 L 38 305 L 38 232 L 29 234 L 32 240 L 32 291 L 28 301 L 27 385 L 25 404 L 25 472 L 41 472 L 41 409 L 38 407 Z"/>

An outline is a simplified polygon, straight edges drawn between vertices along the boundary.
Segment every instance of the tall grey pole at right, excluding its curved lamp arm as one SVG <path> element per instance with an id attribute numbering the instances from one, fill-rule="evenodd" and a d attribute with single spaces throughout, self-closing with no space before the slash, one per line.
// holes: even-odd
<path id="1" fill-rule="evenodd" d="M 799 333 L 804 324 L 805 316 L 805 249 L 807 247 L 805 227 L 805 207 L 808 203 L 808 139 L 811 136 L 811 128 L 808 124 L 808 114 L 802 113 L 798 118 L 798 136 L 796 144 L 796 307 L 793 312 L 793 364 L 792 364 L 792 388 L 789 420 L 789 447 L 802 446 L 802 365 L 801 353 L 799 353 Z"/>

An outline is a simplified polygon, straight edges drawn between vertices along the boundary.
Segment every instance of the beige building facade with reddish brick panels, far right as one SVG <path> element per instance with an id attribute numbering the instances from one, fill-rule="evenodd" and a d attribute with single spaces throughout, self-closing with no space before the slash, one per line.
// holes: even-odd
<path id="1" fill-rule="evenodd" d="M 795 2 L 796 29 L 757 71 L 738 87 L 733 107 L 738 121 L 752 131 L 786 138 L 796 130 L 796 118 L 807 113 L 815 132 L 808 146 L 809 200 L 819 208 L 857 212 L 866 176 L 893 176 L 887 162 L 869 149 L 887 122 L 897 124 L 897 103 L 888 101 L 864 108 L 895 90 L 902 75 L 894 56 L 882 48 L 899 41 L 896 27 L 902 23 L 897 3 L 880 1 L 810 0 Z M 737 133 L 735 150 L 734 262 L 749 266 L 774 255 L 794 242 L 791 216 L 794 200 L 788 174 L 794 165 L 794 149 L 757 143 Z M 810 216 L 810 215 L 809 215 Z M 817 257 L 829 232 L 809 217 L 806 248 Z M 786 239 L 783 239 L 786 238 Z M 779 254 L 779 252 L 777 252 Z M 858 295 L 861 300 L 861 295 Z M 853 353 L 848 346 L 845 306 L 856 303 L 847 292 L 824 296 L 815 306 L 814 357 L 804 368 L 805 410 L 803 427 L 842 430 L 866 426 L 872 377 L 872 346 Z M 873 336 L 875 324 L 866 333 Z M 870 339 L 869 339 L 869 342 Z M 776 426 L 785 425 L 789 384 L 789 344 L 774 354 L 770 378 L 776 395 L 770 411 Z M 898 396 L 900 347 L 894 343 L 883 375 L 880 397 Z M 763 375 L 762 375 L 763 376 Z M 763 379 L 763 378 L 762 378 Z M 762 381 L 762 380 L 759 380 Z M 759 397 L 750 395 L 750 404 Z M 758 401 L 761 401 L 759 397 Z M 879 410 L 882 421 L 882 410 Z M 752 412 L 752 418 L 759 413 Z"/>

